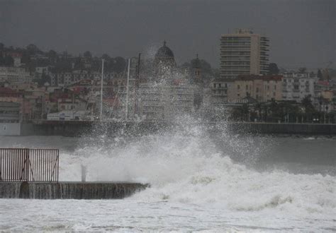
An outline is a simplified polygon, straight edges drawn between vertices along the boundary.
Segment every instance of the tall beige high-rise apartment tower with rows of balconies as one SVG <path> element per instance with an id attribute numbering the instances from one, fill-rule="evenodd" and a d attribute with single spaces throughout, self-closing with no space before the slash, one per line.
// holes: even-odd
<path id="1" fill-rule="evenodd" d="M 267 74 L 269 39 L 251 30 L 237 29 L 220 38 L 220 78 Z"/>

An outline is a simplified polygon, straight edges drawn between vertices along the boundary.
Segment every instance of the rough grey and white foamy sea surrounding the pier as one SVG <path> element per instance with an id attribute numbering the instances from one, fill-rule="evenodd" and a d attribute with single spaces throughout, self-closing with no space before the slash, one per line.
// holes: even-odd
<path id="1" fill-rule="evenodd" d="M 142 137 L 0 137 L 60 148 L 60 180 L 136 181 L 123 200 L 0 199 L 4 231 L 335 231 L 336 138 L 241 136 L 200 124 Z"/>

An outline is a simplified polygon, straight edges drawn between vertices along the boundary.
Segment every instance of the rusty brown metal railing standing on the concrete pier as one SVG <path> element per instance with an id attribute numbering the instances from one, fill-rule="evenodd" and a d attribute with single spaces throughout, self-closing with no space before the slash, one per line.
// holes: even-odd
<path id="1" fill-rule="evenodd" d="M 59 150 L 0 148 L 0 181 L 58 182 Z"/>

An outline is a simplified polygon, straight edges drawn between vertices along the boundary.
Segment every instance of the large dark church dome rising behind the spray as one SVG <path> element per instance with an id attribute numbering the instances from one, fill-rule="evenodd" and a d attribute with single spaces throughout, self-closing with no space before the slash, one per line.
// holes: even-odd
<path id="1" fill-rule="evenodd" d="M 167 42 L 164 41 L 163 46 L 160 47 L 155 54 L 155 75 L 158 76 L 158 78 L 160 76 L 169 75 L 177 66 L 174 53 L 166 44 Z"/>

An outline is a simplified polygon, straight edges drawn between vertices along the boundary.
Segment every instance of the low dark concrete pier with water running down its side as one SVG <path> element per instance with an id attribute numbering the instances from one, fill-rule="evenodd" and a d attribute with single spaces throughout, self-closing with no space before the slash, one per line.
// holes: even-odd
<path id="1" fill-rule="evenodd" d="M 0 182 L 0 198 L 121 199 L 147 187 L 127 182 Z"/>

